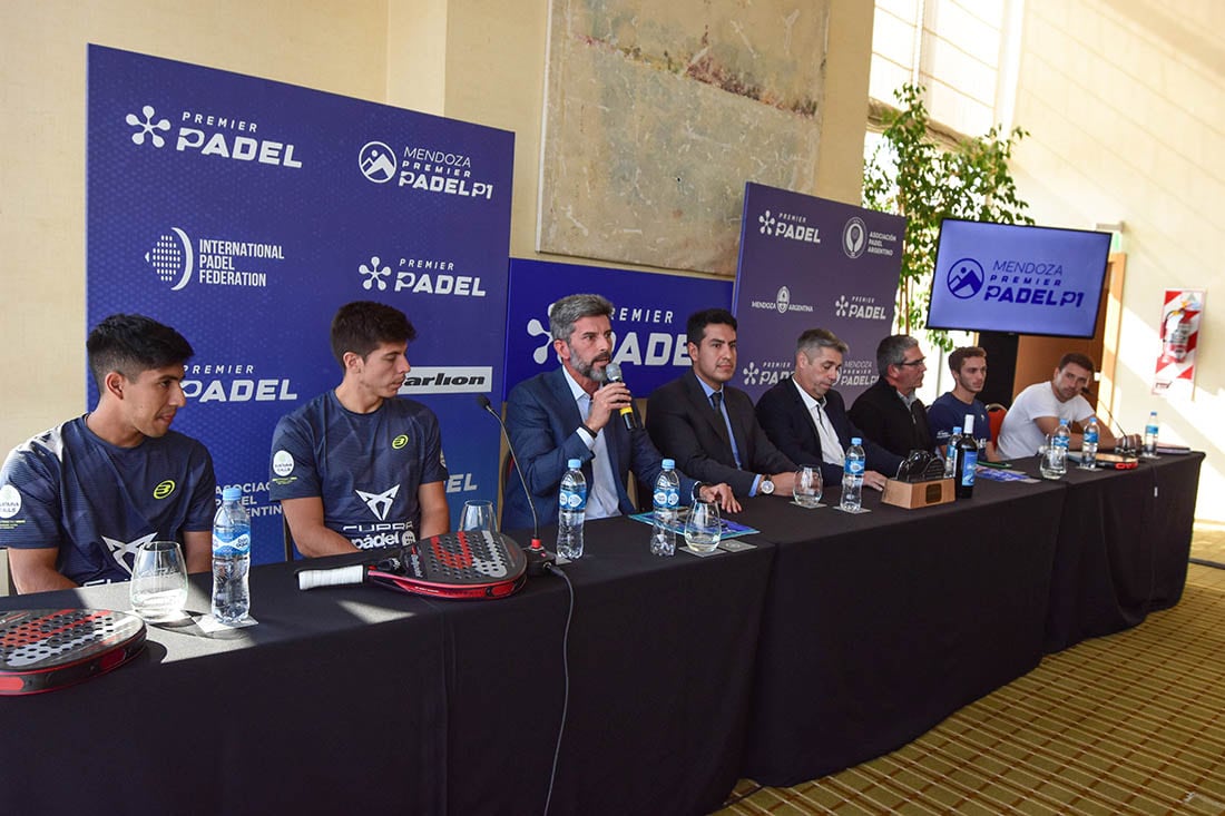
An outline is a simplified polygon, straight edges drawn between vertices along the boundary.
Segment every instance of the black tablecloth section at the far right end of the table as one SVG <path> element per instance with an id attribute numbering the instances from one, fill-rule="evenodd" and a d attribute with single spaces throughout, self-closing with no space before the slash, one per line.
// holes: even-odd
<path id="1" fill-rule="evenodd" d="M 1188 453 L 1145 459 L 1134 470 L 1068 469 L 1047 652 L 1134 626 L 1178 603 L 1203 461 L 1203 453 Z"/>

